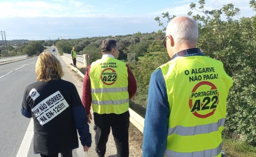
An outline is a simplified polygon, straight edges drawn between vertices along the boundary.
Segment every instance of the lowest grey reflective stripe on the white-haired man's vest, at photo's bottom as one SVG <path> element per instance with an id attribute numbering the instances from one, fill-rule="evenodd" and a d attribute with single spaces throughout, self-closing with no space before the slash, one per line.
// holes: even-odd
<path id="1" fill-rule="evenodd" d="M 217 148 L 215 149 L 208 149 L 208 150 L 202 150 L 199 152 L 191 152 L 191 153 L 181 153 L 181 152 L 174 152 L 171 150 L 166 150 L 164 153 L 164 156 L 179 156 L 179 157 L 199 157 L 199 156 L 204 156 L 204 157 L 212 157 L 212 156 L 217 156 L 222 149 L 222 142 L 220 145 L 218 145 Z"/>

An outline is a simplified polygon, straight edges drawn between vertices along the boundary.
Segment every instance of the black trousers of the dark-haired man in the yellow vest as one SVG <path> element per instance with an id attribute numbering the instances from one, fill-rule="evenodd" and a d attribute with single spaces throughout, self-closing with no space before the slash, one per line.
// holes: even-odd
<path id="1" fill-rule="evenodd" d="M 118 157 L 129 157 L 129 111 L 122 114 L 93 113 L 95 126 L 95 150 L 99 157 L 104 157 L 110 128 L 114 136 Z"/>

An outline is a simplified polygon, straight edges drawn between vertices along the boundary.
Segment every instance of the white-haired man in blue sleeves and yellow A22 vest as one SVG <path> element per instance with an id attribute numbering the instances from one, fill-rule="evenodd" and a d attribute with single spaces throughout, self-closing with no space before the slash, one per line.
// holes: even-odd
<path id="1" fill-rule="evenodd" d="M 221 156 L 226 100 L 233 84 L 219 60 L 197 47 L 198 24 L 173 18 L 163 46 L 171 60 L 151 75 L 142 156 Z"/>

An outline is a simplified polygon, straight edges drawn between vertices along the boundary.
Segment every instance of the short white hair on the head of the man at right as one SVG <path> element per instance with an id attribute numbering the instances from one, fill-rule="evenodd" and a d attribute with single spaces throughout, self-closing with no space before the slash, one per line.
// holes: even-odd
<path id="1" fill-rule="evenodd" d="M 184 17 L 183 20 L 177 21 L 177 18 Z M 176 43 L 197 43 L 198 24 L 196 21 L 187 16 L 173 18 L 166 28 L 166 36 L 171 35 Z"/>

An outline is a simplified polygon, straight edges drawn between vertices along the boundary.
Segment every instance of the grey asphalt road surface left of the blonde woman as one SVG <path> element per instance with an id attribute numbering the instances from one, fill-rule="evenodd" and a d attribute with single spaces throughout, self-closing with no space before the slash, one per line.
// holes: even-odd
<path id="1" fill-rule="evenodd" d="M 37 57 L 0 66 L 0 156 L 16 156 L 30 119 L 20 113 L 24 89 L 36 81 Z"/>

